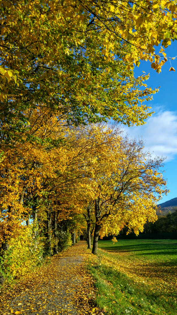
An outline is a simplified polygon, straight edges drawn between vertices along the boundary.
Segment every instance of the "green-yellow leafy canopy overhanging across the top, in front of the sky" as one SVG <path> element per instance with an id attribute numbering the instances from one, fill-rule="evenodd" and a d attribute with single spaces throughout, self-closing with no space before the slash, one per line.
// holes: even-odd
<path id="1" fill-rule="evenodd" d="M 27 109 L 75 124 L 141 124 L 150 115 L 141 103 L 155 91 L 141 89 L 148 76 L 132 70 L 150 60 L 160 71 L 165 53 L 154 46 L 176 39 L 174 2 L 2 1 L 0 9 L 1 117 L 13 133 L 28 126 Z"/>

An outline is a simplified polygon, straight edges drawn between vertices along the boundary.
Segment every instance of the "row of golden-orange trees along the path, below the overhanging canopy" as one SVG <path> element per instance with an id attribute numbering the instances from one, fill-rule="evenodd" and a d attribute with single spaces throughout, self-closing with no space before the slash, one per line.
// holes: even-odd
<path id="1" fill-rule="evenodd" d="M 75 243 L 75 233 L 86 224 L 88 247 L 94 230 L 97 254 L 99 235 L 124 226 L 138 233 L 147 219 L 156 220 L 156 204 L 167 192 L 158 172 L 163 160 L 144 153 L 142 140 L 129 140 L 106 125 L 67 128 L 51 117 L 49 126 L 53 141 L 21 142 L 1 161 L 3 251 L 24 233 L 25 221 L 29 240 L 34 236 L 34 246 L 39 240 L 40 256 L 42 250 L 51 256 L 64 248 L 69 232 Z"/>

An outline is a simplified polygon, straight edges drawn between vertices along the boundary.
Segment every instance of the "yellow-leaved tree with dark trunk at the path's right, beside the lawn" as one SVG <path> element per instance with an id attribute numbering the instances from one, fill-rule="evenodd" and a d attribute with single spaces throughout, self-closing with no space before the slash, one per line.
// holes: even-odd
<path id="1" fill-rule="evenodd" d="M 93 254 L 97 254 L 99 235 L 118 234 L 124 226 L 138 234 L 147 219 L 157 219 L 157 203 L 168 192 L 158 172 L 162 166 L 162 158 L 152 159 L 143 151 L 143 141 L 119 135 L 109 145 L 107 157 L 97 156 L 97 166 L 93 167 L 96 176 L 91 180 L 96 219 Z"/>

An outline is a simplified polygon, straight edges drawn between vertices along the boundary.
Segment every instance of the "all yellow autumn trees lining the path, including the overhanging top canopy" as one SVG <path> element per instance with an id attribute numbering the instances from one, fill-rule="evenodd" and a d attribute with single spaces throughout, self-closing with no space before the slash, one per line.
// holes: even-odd
<path id="1" fill-rule="evenodd" d="M 143 103 L 157 89 L 133 68 L 149 60 L 161 71 L 166 54 L 153 46 L 176 39 L 176 10 L 158 0 L 0 3 L 2 282 L 86 225 L 96 254 L 99 234 L 156 220 L 163 159 L 102 123 L 152 114 Z"/>

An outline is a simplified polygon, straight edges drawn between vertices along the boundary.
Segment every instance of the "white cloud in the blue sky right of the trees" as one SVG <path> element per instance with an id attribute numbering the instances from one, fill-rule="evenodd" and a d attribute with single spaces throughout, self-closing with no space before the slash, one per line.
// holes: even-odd
<path id="1" fill-rule="evenodd" d="M 133 138 L 142 136 L 146 151 L 172 160 L 177 154 L 177 112 L 165 111 L 159 107 L 143 126 L 124 127 L 125 133 Z"/>

